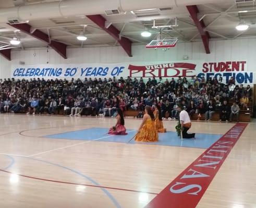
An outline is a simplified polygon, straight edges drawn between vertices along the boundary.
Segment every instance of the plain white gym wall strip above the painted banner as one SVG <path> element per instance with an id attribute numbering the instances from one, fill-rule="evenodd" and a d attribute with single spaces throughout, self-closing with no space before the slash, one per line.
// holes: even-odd
<path id="1" fill-rule="evenodd" d="M 11 51 L 11 61 L 0 58 L 0 78 L 10 77 L 11 64 L 65 64 L 65 63 L 115 63 L 137 61 L 178 61 L 185 55 L 189 60 L 204 62 L 247 61 L 247 71 L 256 72 L 256 38 L 226 41 L 211 41 L 211 54 L 205 54 L 202 42 L 178 43 L 176 47 L 163 51 L 161 48 L 146 49 L 143 45 L 132 46 L 133 57 L 128 57 L 121 47 L 90 47 L 67 49 L 68 59 L 49 49 Z"/>

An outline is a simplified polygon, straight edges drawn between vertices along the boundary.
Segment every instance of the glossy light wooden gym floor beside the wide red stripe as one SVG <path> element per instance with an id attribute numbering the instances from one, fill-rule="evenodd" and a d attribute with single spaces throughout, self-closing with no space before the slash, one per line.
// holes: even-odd
<path id="1" fill-rule="evenodd" d="M 99 129 L 113 126 L 115 119 L 13 114 L 0 119 L 4 208 L 142 208 L 207 149 L 101 141 L 108 135 Z M 140 122 L 126 119 L 127 140 Z M 256 207 L 255 124 L 248 124 L 197 207 Z M 234 125 L 193 122 L 191 132 L 224 135 Z M 175 132 L 176 122 L 164 126 Z M 87 131 L 87 139 L 76 137 L 80 130 Z M 74 138 L 45 137 L 62 133 Z"/>

